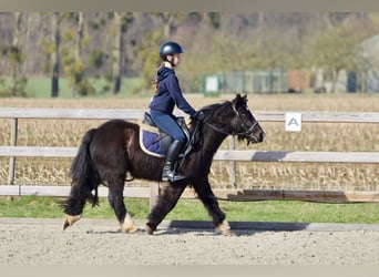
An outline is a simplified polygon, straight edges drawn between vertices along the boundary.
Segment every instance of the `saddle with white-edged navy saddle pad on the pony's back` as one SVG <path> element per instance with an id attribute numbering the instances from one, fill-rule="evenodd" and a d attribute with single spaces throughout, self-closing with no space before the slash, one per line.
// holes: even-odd
<path id="1" fill-rule="evenodd" d="M 193 150 L 195 145 L 195 133 L 190 131 L 183 116 L 177 117 L 176 122 L 182 127 L 187 138 L 186 145 L 183 147 L 182 153 L 180 154 L 181 157 L 184 157 Z M 140 141 L 142 138 L 142 148 L 150 154 L 165 157 L 168 146 L 174 141 L 173 137 L 160 130 L 147 112 L 144 113 L 142 123 L 143 125 L 141 127 L 140 134 Z"/>

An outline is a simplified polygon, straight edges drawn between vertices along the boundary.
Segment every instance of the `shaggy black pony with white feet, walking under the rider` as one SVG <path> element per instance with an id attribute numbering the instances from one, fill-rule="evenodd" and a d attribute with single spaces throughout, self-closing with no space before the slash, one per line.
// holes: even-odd
<path id="1" fill-rule="evenodd" d="M 156 205 L 147 216 L 147 234 L 154 233 L 187 185 L 195 189 L 216 229 L 224 235 L 231 234 L 231 227 L 208 181 L 213 156 L 227 135 L 236 135 L 249 144 L 263 142 L 265 132 L 250 113 L 246 95 L 237 94 L 233 101 L 208 105 L 201 111 L 204 120 L 193 120 L 190 124 L 190 130 L 197 129 L 199 140 L 181 167 L 187 178 L 163 187 Z M 125 233 L 137 230 L 123 202 L 126 174 L 158 182 L 163 163 L 163 157 L 148 155 L 141 148 L 139 124 L 111 120 L 98 129 L 89 130 L 71 165 L 71 192 L 62 203 L 66 214 L 63 229 L 80 219 L 86 201 L 93 206 L 98 204 L 98 186 L 103 184 L 109 187 L 109 203 L 121 229 Z"/>

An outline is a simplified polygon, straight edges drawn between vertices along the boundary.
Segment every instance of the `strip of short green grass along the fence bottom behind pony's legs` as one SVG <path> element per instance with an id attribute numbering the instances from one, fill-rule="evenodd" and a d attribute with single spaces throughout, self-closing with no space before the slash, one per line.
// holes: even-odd
<path id="1" fill-rule="evenodd" d="M 0 197 L 0 217 L 64 217 L 57 197 L 24 196 Z M 136 219 L 145 219 L 148 214 L 147 198 L 127 198 L 125 204 Z M 362 204 L 319 204 L 307 202 L 219 202 L 229 222 L 294 222 L 294 223 L 355 223 L 379 224 L 379 205 Z M 86 205 L 86 218 L 115 219 L 106 198 L 100 206 Z M 165 219 L 211 220 L 199 201 L 180 199 Z"/>

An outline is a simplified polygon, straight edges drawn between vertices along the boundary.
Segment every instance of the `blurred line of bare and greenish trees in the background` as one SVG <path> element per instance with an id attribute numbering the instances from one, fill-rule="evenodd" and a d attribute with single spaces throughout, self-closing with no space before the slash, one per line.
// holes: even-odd
<path id="1" fill-rule="evenodd" d="M 370 12 L 7 12 L 0 13 L 0 94 L 25 95 L 28 76 L 70 80 L 73 96 L 120 93 L 122 80 L 140 76 L 150 88 L 158 47 L 180 42 L 178 74 L 185 91 L 201 75 L 229 71 L 322 69 L 336 83 L 341 69 L 362 72 L 360 43 L 378 33 Z"/>

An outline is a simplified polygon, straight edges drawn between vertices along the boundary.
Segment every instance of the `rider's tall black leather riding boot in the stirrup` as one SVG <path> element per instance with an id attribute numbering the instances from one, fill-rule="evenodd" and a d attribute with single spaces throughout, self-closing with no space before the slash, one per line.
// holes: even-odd
<path id="1" fill-rule="evenodd" d="M 174 170 L 175 161 L 181 153 L 182 147 L 183 144 L 180 141 L 174 141 L 168 146 L 166 161 L 164 162 L 162 171 L 162 181 L 176 182 L 186 178 L 185 175 L 176 173 Z"/>

